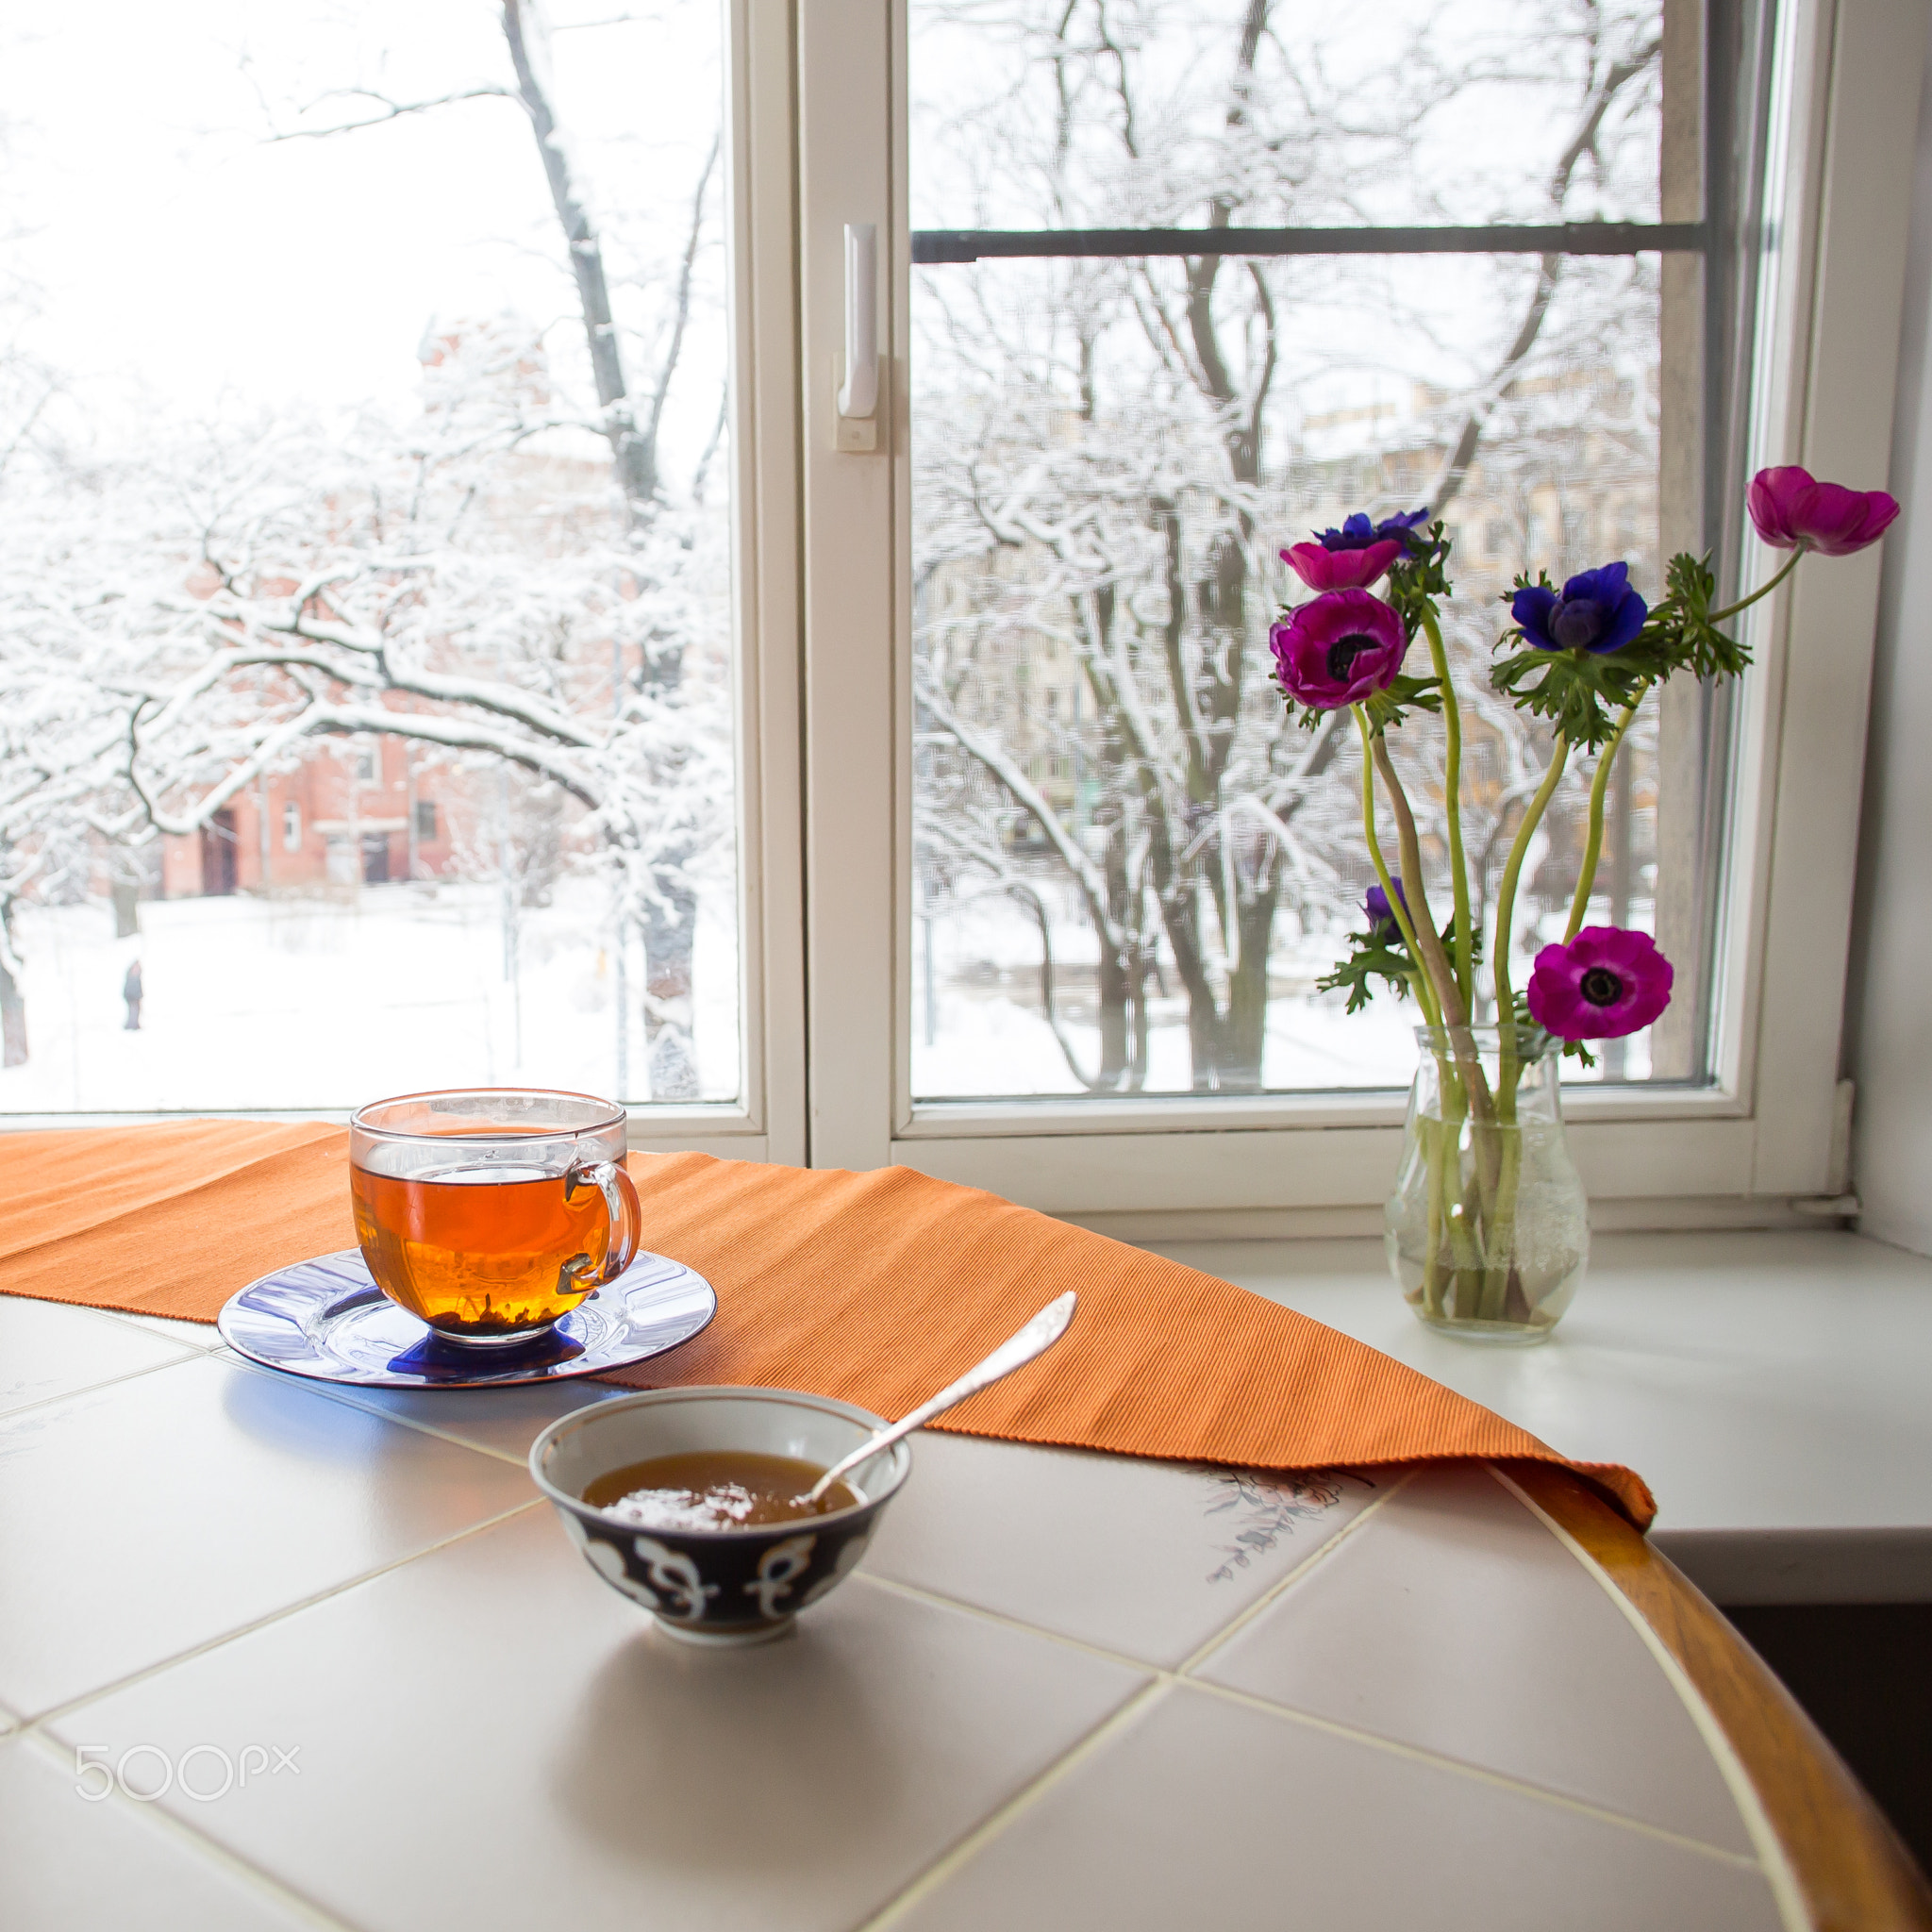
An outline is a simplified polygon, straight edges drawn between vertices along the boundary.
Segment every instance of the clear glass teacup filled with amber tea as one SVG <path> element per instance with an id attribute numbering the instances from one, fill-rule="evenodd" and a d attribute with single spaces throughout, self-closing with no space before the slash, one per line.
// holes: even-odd
<path id="1" fill-rule="evenodd" d="M 543 1335 L 630 1267 L 641 1229 L 624 1109 L 589 1094 L 371 1101 L 350 1121 L 350 1200 L 377 1287 L 458 1343 Z"/>

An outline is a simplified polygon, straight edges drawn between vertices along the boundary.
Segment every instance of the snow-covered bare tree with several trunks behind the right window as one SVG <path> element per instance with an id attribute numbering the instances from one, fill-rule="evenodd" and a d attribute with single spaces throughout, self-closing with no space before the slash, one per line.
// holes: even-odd
<path id="1" fill-rule="evenodd" d="M 1150 224 L 1320 220 L 1412 168 L 1414 122 L 1472 71 L 1437 60 L 1424 39 L 1349 87 L 1327 85 L 1318 64 L 1277 68 L 1264 108 L 1256 64 L 1275 12 L 1242 0 L 1219 29 L 1209 129 L 1146 91 L 1136 58 L 1151 31 L 1146 8 L 968 0 L 956 12 L 981 31 L 997 21 L 1028 35 L 1049 77 L 1051 126 L 1037 137 L 1026 106 L 972 122 L 968 139 L 991 156 L 987 191 L 1010 205 L 1018 178 L 1043 218 L 1068 226 L 1113 226 L 1122 205 Z M 1584 14 L 1582 95 L 1544 189 L 1555 211 L 1578 170 L 1602 164 L 1613 108 L 1656 66 L 1652 43 L 1629 44 L 1594 8 Z M 1213 60 L 1206 43 L 1200 52 L 1196 66 Z M 1298 89 L 1287 102 L 1283 71 Z M 1094 213 L 1094 195 L 1107 214 Z M 1082 1065 L 1057 1014 L 1047 1018 L 1082 1086 L 1144 1084 L 1148 999 L 1165 958 L 1186 997 L 1194 1088 L 1254 1092 L 1277 918 L 1285 904 L 1337 916 L 1345 877 L 1360 869 L 1350 864 L 1358 752 L 1333 728 L 1293 732 L 1264 676 L 1267 591 L 1279 582 L 1269 551 L 1302 533 L 1291 516 L 1304 500 L 1327 522 L 1432 497 L 1441 510 L 1480 469 L 1492 433 L 1536 413 L 1520 394 L 1540 355 L 1549 361 L 1563 263 L 1540 265 L 1495 363 L 1445 398 L 1461 419 L 1434 431 L 1447 439 L 1434 475 L 1401 452 L 1352 466 L 1293 456 L 1277 421 L 1296 413 L 1294 398 L 1281 408 L 1291 317 L 1279 290 L 1293 299 L 1320 274 L 1306 261 L 1283 272 L 1209 253 L 1179 274 L 1159 261 L 1049 274 L 1051 288 L 1036 280 L 1028 298 L 1001 303 L 974 270 L 929 270 L 945 375 L 922 404 L 933 429 L 916 450 L 922 848 L 935 873 L 962 885 L 1012 893 L 1049 873 L 1070 883 L 1099 947 L 1094 1063 Z M 1097 373 L 1107 365 L 1111 384 Z M 1343 489 L 1360 500 L 1337 500 Z M 1486 649 L 1493 638 L 1478 643 L 1472 628 L 1461 649 Z M 1078 724 L 1028 707 L 1024 667 L 1039 651 L 1074 663 Z M 1507 837 L 1501 825 L 1522 796 L 1522 726 L 1507 707 L 1476 711 L 1474 755 L 1499 767 L 1495 823 L 1484 831 Z M 1068 753 L 1094 773 L 1088 796 L 1055 794 L 1036 769 Z M 1540 777 L 1534 755 L 1528 767 Z M 1416 790 L 1439 798 L 1439 773 Z"/>

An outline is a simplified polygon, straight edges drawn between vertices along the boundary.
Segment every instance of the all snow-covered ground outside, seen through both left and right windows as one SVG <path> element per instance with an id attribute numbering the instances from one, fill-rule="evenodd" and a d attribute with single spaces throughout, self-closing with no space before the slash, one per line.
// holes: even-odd
<path id="1" fill-rule="evenodd" d="M 102 904 L 21 914 L 31 1059 L 0 1072 L 0 1115 L 336 1109 L 413 1088 L 510 1082 L 647 1099 L 641 958 L 634 943 L 626 1080 L 611 925 L 589 885 L 566 881 L 553 906 L 520 912 L 514 981 L 504 976 L 502 904 L 491 885 L 377 885 L 354 904 L 160 900 L 141 906 L 137 937 L 112 931 Z M 147 1001 L 141 1032 L 129 1034 L 120 989 L 135 958 Z M 1267 1086 L 1406 1088 L 1414 1007 L 1378 995 L 1368 1012 L 1347 1016 L 1339 997 L 1314 991 L 1331 960 L 1327 939 L 1277 949 L 1273 974 L 1285 991 L 1267 1016 Z M 1055 962 L 1066 1032 L 1092 1068 L 1094 937 L 1084 922 L 1059 925 Z M 985 898 L 935 922 L 931 1043 L 923 964 L 922 925 L 912 1001 L 918 1097 L 1084 1092 L 1041 1016 L 1039 929 L 1016 906 Z M 1179 989 L 1153 1003 L 1153 1020 L 1144 1092 L 1184 1094 Z M 697 1057 L 705 1099 L 732 1099 L 738 968 L 724 920 L 697 925 Z M 1648 1068 L 1648 1036 L 1636 1036 L 1629 1076 Z"/>

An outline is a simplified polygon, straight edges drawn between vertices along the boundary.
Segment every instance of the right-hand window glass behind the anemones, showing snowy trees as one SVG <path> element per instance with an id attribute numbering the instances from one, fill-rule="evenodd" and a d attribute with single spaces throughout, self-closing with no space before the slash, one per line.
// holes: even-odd
<path id="1" fill-rule="evenodd" d="M 958 226 L 987 218 L 987 203 L 962 216 L 952 197 L 978 162 L 1010 197 L 999 209 L 1007 226 L 1202 224 L 1202 170 L 1244 153 L 1246 135 L 1217 133 L 1244 12 L 1076 8 L 1063 39 L 1028 39 L 1001 37 L 981 10 L 918 0 L 916 207 L 927 195 Z M 956 37 L 968 17 L 987 29 L 980 68 Z M 1198 77 L 1221 50 L 1219 124 L 1173 102 L 1155 112 L 1151 99 L 1142 114 L 1132 97 L 1126 153 L 1119 77 L 1142 70 L 1092 39 L 1126 19 L 1192 48 L 1192 66 L 1150 58 L 1146 71 Z M 1335 33 L 1333 60 L 1308 60 L 1308 71 L 1341 71 L 1360 29 Z M 1468 58 L 1472 73 L 1493 71 Z M 1032 145 L 1037 116 L 1020 106 L 1034 85 L 1059 99 L 1055 62 L 1072 102 L 1065 158 L 1051 141 Z M 1609 89 L 1633 126 L 1652 77 L 1638 64 Z M 1578 68 L 1567 85 L 1575 124 L 1577 89 L 1607 83 Z M 1445 83 L 1437 93 L 1455 97 Z M 1287 116 L 1281 139 L 1320 122 L 1279 91 L 1275 108 Z M 1094 162 L 1109 139 L 1113 185 Z M 1308 135 L 1310 180 L 1327 166 L 1327 139 Z M 1648 155 L 1654 199 L 1654 120 L 1631 141 Z M 1179 184 L 1161 213 L 1128 193 L 1153 178 Z M 1437 185 L 1461 191 L 1459 180 L 1449 170 Z M 1227 218 L 1368 213 L 1308 214 L 1273 193 L 1264 184 L 1252 201 L 1233 199 Z M 1447 209 L 1432 218 L 1468 214 Z M 1578 209 L 1546 199 L 1503 213 L 1549 220 Z M 1549 755 L 1548 732 L 1488 684 L 1507 624 L 1501 595 L 1522 568 L 1561 582 L 1619 556 L 1646 593 L 1660 583 L 1660 439 L 1671 433 L 1660 421 L 1660 284 L 1656 255 L 914 269 L 916 1097 L 1406 1082 L 1414 1007 L 1381 993 L 1347 1016 L 1343 997 L 1318 987 L 1362 927 L 1374 871 L 1347 713 L 1310 734 L 1269 684 L 1267 626 L 1279 603 L 1306 595 L 1277 554 L 1352 510 L 1428 502 L 1449 526 L 1445 632 L 1484 918 Z M 1439 726 L 1424 721 L 1391 746 L 1445 922 Z M 1517 985 L 1538 947 L 1561 937 L 1590 777 L 1590 761 L 1565 773 L 1530 846 Z M 1393 850 L 1387 823 L 1383 840 Z M 1592 918 L 1654 929 L 1656 898 L 1652 705 L 1609 794 Z M 1685 1072 L 1681 1061 L 1660 1070 Z M 1611 1045 L 1594 1078 L 1650 1072 L 1650 1039 L 1634 1036 Z"/>

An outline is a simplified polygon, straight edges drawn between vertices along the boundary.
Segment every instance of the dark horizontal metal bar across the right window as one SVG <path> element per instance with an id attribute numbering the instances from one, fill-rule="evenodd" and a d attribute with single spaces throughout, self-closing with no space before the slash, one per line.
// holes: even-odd
<path id="1" fill-rule="evenodd" d="M 1640 255 L 1704 253 L 1706 222 L 1549 222 L 1492 228 L 916 228 L 922 267 L 1113 255 Z"/>

